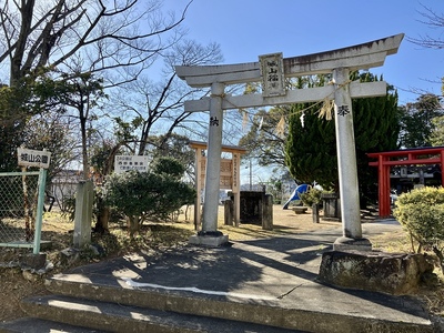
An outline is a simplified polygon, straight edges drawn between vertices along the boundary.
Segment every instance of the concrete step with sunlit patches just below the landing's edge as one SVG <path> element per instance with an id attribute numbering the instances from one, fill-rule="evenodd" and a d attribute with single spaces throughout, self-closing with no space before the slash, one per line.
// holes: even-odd
<path id="1" fill-rule="evenodd" d="M 60 295 L 27 299 L 22 307 L 33 317 L 69 325 L 81 323 L 89 330 L 104 332 L 291 332 L 250 323 Z"/>

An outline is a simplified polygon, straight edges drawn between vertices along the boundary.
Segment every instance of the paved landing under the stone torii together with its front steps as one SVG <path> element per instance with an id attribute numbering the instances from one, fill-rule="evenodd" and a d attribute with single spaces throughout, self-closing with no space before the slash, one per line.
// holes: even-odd
<path id="1" fill-rule="evenodd" d="M 320 283 L 330 236 L 336 233 L 79 266 L 48 279 L 52 295 L 23 300 L 29 319 L 0 323 L 0 332 L 444 332 L 414 297 Z"/>

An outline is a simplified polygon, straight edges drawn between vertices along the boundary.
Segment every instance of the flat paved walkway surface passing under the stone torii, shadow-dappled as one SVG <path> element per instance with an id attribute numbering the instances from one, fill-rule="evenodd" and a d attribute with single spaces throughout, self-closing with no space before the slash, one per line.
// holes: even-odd
<path id="1" fill-rule="evenodd" d="M 363 235 L 398 231 L 394 220 L 363 224 Z M 140 253 L 73 270 L 79 279 L 139 289 L 224 296 L 282 309 L 301 309 L 349 319 L 427 325 L 420 302 L 410 296 L 345 290 L 320 283 L 322 253 L 341 235 L 337 228 L 206 249 L 184 246 Z M 421 332 L 421 331 L 417 331 Z"/>

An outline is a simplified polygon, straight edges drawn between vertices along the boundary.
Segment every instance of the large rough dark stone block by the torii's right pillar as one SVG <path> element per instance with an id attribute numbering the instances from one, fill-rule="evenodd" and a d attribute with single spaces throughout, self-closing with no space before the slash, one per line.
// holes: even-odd
<path id="1" fill-rule="evenodd" d="M 319 279 L 337 286 L 390 294 L 414 292 L 433 264 L 423 254 L 377 251 L 327 251 L 322 255 Z"/>

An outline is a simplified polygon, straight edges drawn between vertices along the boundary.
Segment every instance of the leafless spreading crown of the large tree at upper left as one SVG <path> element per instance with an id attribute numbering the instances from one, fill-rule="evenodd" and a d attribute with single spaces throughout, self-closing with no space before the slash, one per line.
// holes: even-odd
<path id="1" fill-rule="evenodd" d="M 4 0 L 0 63 L 8 62 L 11 84 L 36 68 L 79 59 L 91 72 L 142 65 L 181 38 L 188 6 L 175 19 L 160 14 L 159 0 Z"/>

